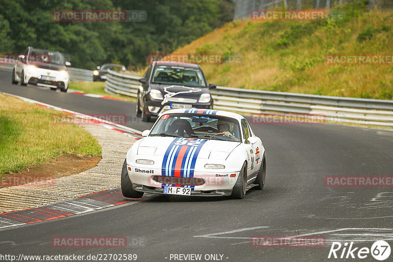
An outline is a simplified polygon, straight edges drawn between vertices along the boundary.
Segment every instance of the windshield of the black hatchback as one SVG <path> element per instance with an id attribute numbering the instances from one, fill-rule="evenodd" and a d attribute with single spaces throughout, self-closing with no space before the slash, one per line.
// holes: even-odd
<path id="1" fill-rule="evenodd" d="M 160 65 L 154 68 L 153 83 L 206 86 L 203 73 L 199 68 Z"/>

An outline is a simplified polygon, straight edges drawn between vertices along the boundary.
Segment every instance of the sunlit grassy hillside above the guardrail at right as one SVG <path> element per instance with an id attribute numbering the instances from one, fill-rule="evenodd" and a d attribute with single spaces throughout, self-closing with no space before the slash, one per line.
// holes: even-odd
<path id="1" fill-rule="evenodd" d="M 343 21 L 237 21 L 174 53 L 243 55 L 242 63 L 201 64 L 209 82 L 237 88 L 393 99 L 393 66 L 327 65 L 325 55 L 393 54 L 393 11 L 341 7 Z"/>

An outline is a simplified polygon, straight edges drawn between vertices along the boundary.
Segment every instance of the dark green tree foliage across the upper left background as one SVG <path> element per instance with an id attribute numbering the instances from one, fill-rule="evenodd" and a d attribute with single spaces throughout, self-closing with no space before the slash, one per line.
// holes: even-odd
<path id="1" fill-rule="evenodd" d="M 231 0 L 0 0 L 0 53 L 58 50 L 73 67 L 119 61 L 137 68 L 232 20 Z M 55 22 L 55 10 L 146 10 L 144 22 Z"/>

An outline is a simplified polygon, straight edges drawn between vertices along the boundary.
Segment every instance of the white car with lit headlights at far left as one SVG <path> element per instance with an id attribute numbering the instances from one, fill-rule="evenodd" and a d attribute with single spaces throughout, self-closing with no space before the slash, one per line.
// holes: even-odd
<path id="1" fill-rule="evenodd" d="M 70 76 L 66 62 L 61 52 L 35 49 L 28 47 L 25 54 L 18 57 L 12 71 L 12 83 L 21 85 L 34 84 L 60 89 L 67 92 Z"/>

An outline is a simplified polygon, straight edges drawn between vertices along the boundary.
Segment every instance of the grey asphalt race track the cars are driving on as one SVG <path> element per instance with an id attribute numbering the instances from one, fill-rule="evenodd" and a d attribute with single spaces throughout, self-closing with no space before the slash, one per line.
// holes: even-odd
<path id="1" fill-rule="evenodd" d="M 126 114 L 126 126 L 141 131 L 152 126 L 135 117 L 135 103 L 12 85 L 10 72 L 0 71 L 0 91 L 84 114 Z M 0 230 L 2 253 L 136 254 L 137 261 L 143 262 L 180 261 L 173 254 L 202 254 L 201 261 L 206 261 L 207 254 L 218 254 L 216 261 L 233 262 L 335 261 L 328 259 L 332 241 L 354 241 L 354 247 L 360 249 L 385 239 L 393 248 L 392 187 L 327 187 L 324 183 L 325 176 L 392 176 L 392 131 L 328 124 L 250 124 L 266 148 L 263 191 L 250 190 L 243 200 L 153 195 L 112 208 L 12 227 Z M 323 236 L 326 245 L 250 244 L 252 236 L 297 235 Z M 123 236 L 128 246 L 54 248 L 51 239 L 56 236 Z M 368 254 L 363 261 L 375 260 Z"/>

